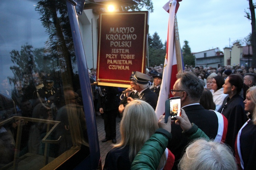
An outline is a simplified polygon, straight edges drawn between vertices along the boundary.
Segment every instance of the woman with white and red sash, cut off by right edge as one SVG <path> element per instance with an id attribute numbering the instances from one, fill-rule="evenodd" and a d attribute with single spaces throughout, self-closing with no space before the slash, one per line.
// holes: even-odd
<path id="1" fill-rule="evenodd" d="M 236 158 L 242 169 L 256 167 L 256 86 L 246 91 L 244 110 L 250 113 L 249 119 L 239 130 L 236 140 Z"/>

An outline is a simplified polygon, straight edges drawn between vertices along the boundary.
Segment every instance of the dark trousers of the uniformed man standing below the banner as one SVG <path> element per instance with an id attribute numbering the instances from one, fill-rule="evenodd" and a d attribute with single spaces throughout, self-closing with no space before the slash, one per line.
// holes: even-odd
<path id="1" fill-rule="evenodd" d="M 104 130 L 107 139 L 116 139 L 116 115 L 118 109 L 104 111 Z"/>

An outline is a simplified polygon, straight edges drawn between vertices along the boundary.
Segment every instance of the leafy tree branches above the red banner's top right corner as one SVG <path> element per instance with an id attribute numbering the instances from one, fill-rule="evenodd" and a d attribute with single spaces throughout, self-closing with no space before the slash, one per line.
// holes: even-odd
<path id="1" fill-rule="evenodd" d="M 151 0 L 140 0 L 137 5 L 123 6 L 124 11 L 141 11 L 145 7 L 149 12 L 153 12 L 153 3 Z"/>

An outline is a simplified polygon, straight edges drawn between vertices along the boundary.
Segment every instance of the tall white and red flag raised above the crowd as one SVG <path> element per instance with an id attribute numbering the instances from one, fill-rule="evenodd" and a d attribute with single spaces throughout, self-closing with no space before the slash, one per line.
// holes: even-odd
<path id="1" fill-rule="evenodd" d="M 179 8 L 179 1 L 181 0 L 177 0 L 177 1 L 170 0 L 168 3 L 166 3 L 163 6 L 163 8 L 169 13 L 169 23 L 168 23 L 167 45 L 166 45 L 167 50 L 166 50 L 165 64 L 163 69 L 163 77 L 162 77 L 160 93 L 159 93 L 156 111 L 155 111 L 158 118 L 160 117 L 160 115 L 165 113 L 165 101 L 171 97 L 170 90 L 172 89 L 175 81 L 177 80 L 176 74 L 178 73 L 178 67 L 182 66 L 179 33 L 177 32 L 177 28 L 175 29 L 175 27 L 177 27 L 176 25 L 177 23 L 176 22 L 174 23 L 175 14 Z M 174 40 L 174 38 L 176 40 Z M 177 52 L 175 49 L 178 49 Z M 178 55 L 176 56 L 176 54 Z M 178 67 L 177 67 L 177 61 L 178 61 Z"/>

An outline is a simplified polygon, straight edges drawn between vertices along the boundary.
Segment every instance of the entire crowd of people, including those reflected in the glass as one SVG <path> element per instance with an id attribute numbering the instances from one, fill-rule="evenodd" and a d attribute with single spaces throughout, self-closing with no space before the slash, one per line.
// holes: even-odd
<path id="1" fill-rule="evenodd" d="M 163 123 L 165 116 L 157 121 L 154 111 L 163 69 L 160 65 L 146 68 L 145 74 L 132 71 L 127 89 L 98 86 L 96 69 L 88 70 L 95 113 L 104 119 L 105 138 L 101 142 L 111 140 L 115 144 L 103 169 L 253 169 L 256 69 L 250 67 L 247 72 L 242 66 L 185 66 L 171 89 L 172 96 L 181 98 L 182 115 L 167 124 Z M 56 80 L 43 72 L 24 74 L 13 89 L 8 78 L 0 82 L 0 121 L 16 115 L 61 122 L 50 138 L 62 138 L 57 145 L 48 145 L 52 148 L 50 156 L 57 157 L 73 146 L 70 117 L 73 124 L 79 124 L 79 143 L 88 141 L 81 90 L 56 86 Z M 121 141 L 116 140 L 117 115 L 122 118 Z M 45 123 L 23 123 L 19 155 L 44 154 Z M 0 156 L 0 167 L 13 160 L 17 125 L 11 121 L 0 126 L 1 155 L 5 155 Z M 195 140 L 199 137 L 204 140 Z M 159 153 L 153 154 L 154 162 L 148 159 L 150 151 Z"/>

